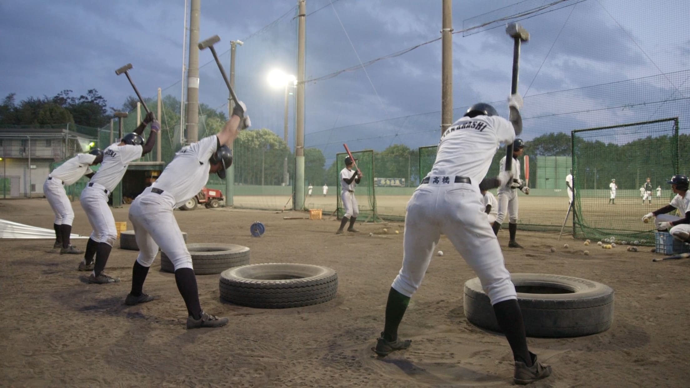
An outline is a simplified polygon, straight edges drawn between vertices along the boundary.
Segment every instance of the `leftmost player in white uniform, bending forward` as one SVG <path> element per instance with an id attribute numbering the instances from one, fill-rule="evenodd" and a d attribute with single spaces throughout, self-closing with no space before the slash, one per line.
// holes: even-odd
<path id="1" fill-rule="evenodd" d="M 80 153 L 55 168 L 43 184 L 43 194 L 55 213 L 55 221 L 52 224 L 55 229 L 55 244 L 53 248 L 59 248 L 60 254 L 69 253 L 79 255 L 83 251 L 70 244 L 72 234 L 72 221 L 75 220 L 75 211 L 65 192 L 65 185 L 70 186 L 86 175 L 91 177 L 94 172 L 89 166 L 95 166 L 103 160 L 103 151 L 94 148 L 89 153 Z M 88 171 L 88 173 L 87 173 Z"/>

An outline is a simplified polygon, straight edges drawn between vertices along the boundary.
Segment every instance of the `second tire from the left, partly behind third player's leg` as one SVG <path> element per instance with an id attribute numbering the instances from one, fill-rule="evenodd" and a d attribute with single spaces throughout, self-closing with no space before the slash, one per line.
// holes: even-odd
<path id="1" fill-rule="evenodd" d="M 192 255 L 192 266 L 197 275 L 221 273 L 233 266 L 249 264 L 249 248 L 235 244 L 187 244 Z M 214 249 L 214 251 L 203 251 Z M 161 251 L 161 271 L 175 272 L 175 266 Z"/>

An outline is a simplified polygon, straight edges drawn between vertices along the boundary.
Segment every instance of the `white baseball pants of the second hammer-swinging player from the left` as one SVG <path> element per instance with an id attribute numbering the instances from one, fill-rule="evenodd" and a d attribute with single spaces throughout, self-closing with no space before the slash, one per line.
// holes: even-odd
<path id="1" fill-rule="evenodd" d="M 113 246 L 117 240 L 117 229 L 115 229 L 115 217 L 108 206 L 108 194 L 106 188 L 100 184 L 86 186 L 81 191 L 79 202 L 86 212 L 88 222 L 91 224 L 91 240 L 95 242 L 105 242 Z"/>

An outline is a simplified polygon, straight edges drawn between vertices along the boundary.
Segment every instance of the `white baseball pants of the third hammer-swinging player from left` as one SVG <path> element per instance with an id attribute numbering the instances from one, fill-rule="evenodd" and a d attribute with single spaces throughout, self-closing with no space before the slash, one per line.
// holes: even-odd
<path id="1" fill-rule="evenodd" d="M 146 188 L 144 193 L 137 196 L 132 202 L 129 211 L 129 219 L 134 226 L 135 240 L 139 246 L 137 262 L 142 266 L 151 266 L 158 254 L 158 247 L 164 251 L 175 270 L 190 268 L 192 255 L 179 230 L 172 208 L 175 199 L 166 193 L 151 193 Z"/>

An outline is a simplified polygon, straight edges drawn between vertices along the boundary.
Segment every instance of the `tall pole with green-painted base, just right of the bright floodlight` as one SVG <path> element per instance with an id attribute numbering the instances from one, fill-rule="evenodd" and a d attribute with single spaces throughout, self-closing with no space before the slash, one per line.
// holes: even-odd
<path id="1" fill-rule="evenodd" d="M 304 46 L 306 43 L 306 0 L 297 0 L 297 103 L 295 126 L 295 210 L 304 208 Z"/>

